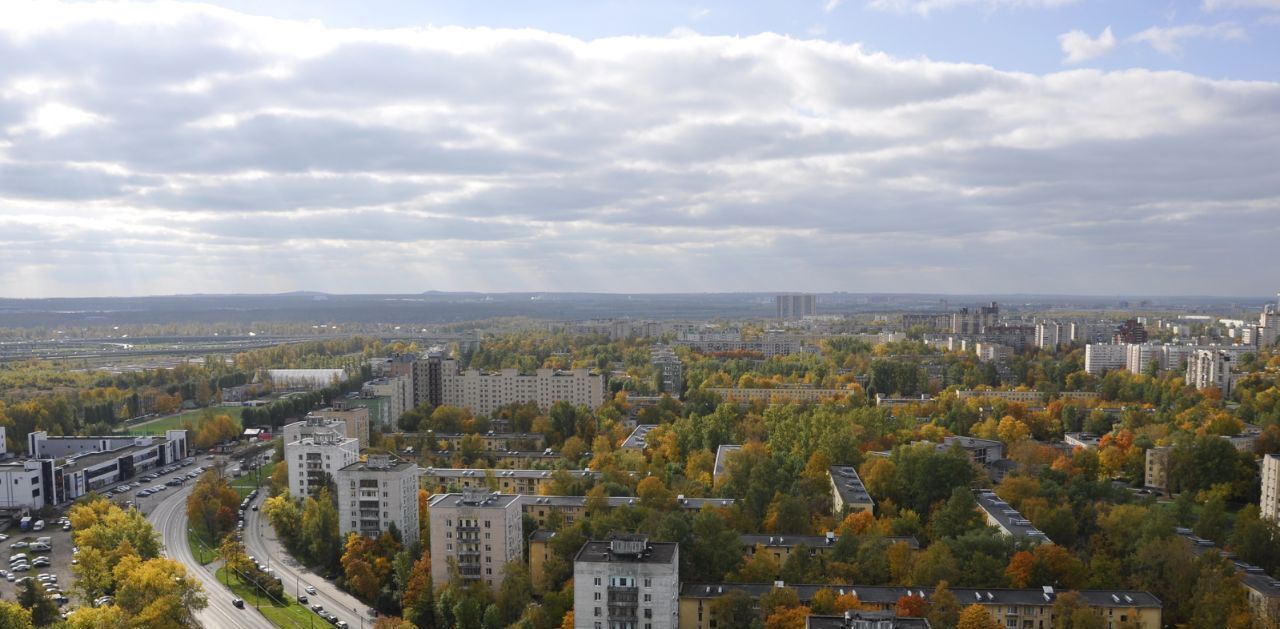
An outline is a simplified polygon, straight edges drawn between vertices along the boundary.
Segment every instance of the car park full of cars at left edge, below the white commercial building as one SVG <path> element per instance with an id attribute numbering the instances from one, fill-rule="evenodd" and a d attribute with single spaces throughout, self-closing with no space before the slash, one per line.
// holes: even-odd
<path id="1" fill-rule="evenodd" d="M 58 598 L 64 609 L 72 607 L 69 591 L 74 555 L 72 534 L 64 529 L 63 520 L 47 520 L 42 530 L 22 532 L 18 527 L 9 527 L 3 534 L 5 538 L 0 541 L 0 548 L 5 561 L 0 562 L 0 597 L 15 600 L 18 585 L 29 578 L 40 582 L 50 596 L 64 596 Z"/>

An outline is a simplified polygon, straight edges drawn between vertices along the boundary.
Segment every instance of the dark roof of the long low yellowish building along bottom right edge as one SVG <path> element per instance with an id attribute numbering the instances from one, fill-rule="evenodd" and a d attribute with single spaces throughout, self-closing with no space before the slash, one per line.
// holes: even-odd
<path id="1" fill-rule="evenodd" d="M 829 588 L 840 594 L 855 594 L 859 601 L 873 605 L 895 605 L 897 600 L 915 594 L 925 601 L 933 596 L 933 587 L 923 585 L 823 585 L 823 584 L 796 584 L 783 585 L 794 589 L 800 597 L 800 602 L 812 601 L 819 589 Z M 760 597 L 773 591 L 769 583 L 684 583 L 680 587 L 681 598 L 718 598 L 726 592 L 740 589 L 753 598 Z M 1043 588 L 947 588 L 960 601 L 960 605 L 975 602 L 1006 603 L 1006 605 L 1052 605 L 1057 600 L 1057 592 L 1052 587 Z M 1082 589 L 1078 591 L 1085 605 L 1093 607 L 1162 607 L 1160 598 L 1148 592 L 1134 589 Z"/>

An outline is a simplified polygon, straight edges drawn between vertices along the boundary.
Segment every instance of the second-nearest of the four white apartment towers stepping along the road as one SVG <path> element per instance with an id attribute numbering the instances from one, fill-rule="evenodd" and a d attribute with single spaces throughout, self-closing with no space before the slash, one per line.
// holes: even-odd
<path id="1" fill-rule="evenodd" d="M 463 489 L 431 496 L 429 509 L 435 583 L 448 583 L 452 569 L 497 591 L 507 562 L 525 560 L 520 496 Z"/>

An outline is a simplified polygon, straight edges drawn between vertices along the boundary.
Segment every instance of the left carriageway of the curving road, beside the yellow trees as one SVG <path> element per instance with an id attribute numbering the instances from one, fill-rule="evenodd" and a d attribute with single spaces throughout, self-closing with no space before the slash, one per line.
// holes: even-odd
<path id="1" fill-rule="evenodd" d="M 166 496 L 151 510 L 147 520 L 160 532 L 164 553 L 183 564 L 187 571 L 200 579 L 205 587 L 209 606 L 196 612 L 196 620 L 207 629 L 274 629 L 274 625 L 252 606 L 241 610 L 232 605 L 232 600 L 236 598 L 232 591 L 218 580 L 210 566 L 200 565 L 195 555 L 191 553 L 191 547 L 187 546 L 187 494 L 191 493 L 192 487 L 195 483 Z"/>

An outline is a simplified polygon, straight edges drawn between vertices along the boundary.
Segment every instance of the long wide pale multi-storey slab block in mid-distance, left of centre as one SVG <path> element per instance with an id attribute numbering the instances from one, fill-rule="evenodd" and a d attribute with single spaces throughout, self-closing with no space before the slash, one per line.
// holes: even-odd
<path id="1" fill-rule="evenodd" d="M 465 406 L 476 415 L 490 415 L 499 406 L 512 402 L 536 402 L 538 407 L 545 410 L 564 401 L 595 409 L 604 404 L 605 395 L 604 375 L 593 374 L 589 369 L 539 369 L 532 374 L 522 374 L 516 369 L 498 373 L 480 373 L 475 369 L 460 372 L 453 360 L 444 361 L 442 388 L 443 404 Z"/>

